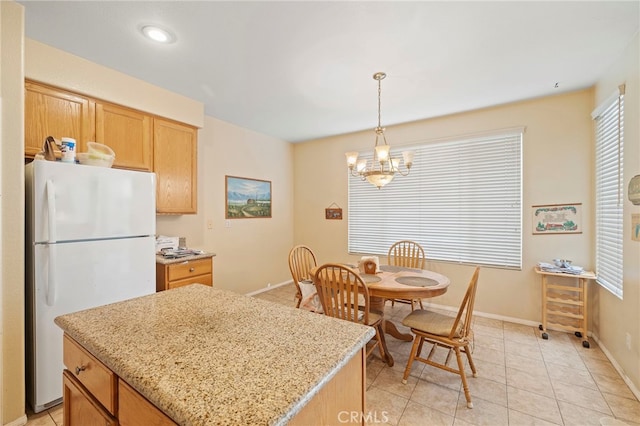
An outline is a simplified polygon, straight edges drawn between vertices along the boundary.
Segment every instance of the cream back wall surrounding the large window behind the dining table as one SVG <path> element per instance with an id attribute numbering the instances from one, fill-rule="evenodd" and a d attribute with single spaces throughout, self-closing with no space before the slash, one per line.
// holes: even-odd
<path id="1" fill-rule="evenodd" d="M 531 206 L 582 203 L 582 221 L 592 221 L 593 93 L 583 90 L 465 114 L 387 128 L 392 150 L 416 141 L 525 126 L 523 146 L 523 269 L 483 268 L 476 309 L 495 316 L 538 323 L 541 318 L 539 261 L 561 257 L 593 267 L 592 230 L 582 234 L 532 235 Z M 373 124 L 373 123 L 372 123 Z M 374 133 L 342 135 L 295 145 L 295 243 L 317 251 L 320 262 L 345 261 L 347 253 L 347 171 L 344 152 L 370 150 Z M 402 177 L 398 179 L 401 184 Z M 384 191 L 384 188 L 381 190 Z M 331 203 L 344 220 L 325 220 Z M 429 257 L 428 244 L 425 247 Z M 428 262 L 428 269 L 452 280 L 436 303 L 457 306 L 473 272 L 470 266 Z"/>

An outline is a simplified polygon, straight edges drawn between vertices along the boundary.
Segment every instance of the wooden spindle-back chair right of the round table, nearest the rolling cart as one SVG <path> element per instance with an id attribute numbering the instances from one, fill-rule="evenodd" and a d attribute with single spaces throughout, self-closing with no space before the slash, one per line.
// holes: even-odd
<path id="1" fill-rule="evenodd" d="M 417 309 L 402 320 L 402 324 L 410 327 L 411 332 L 415 334 L 413 346 L 411 347 L 411 354 L 407 361 L 407 368 L 404 370 L 402 383 L 407 383 L 407 378 L 411 372 L 411 365 L 414 360 L 441 368 L 451 373 L 456 373 L 462 379 L 462 387 L 464 388 L 464 396 L 467 399 L 468 408 L 473 408 L 473 403 L 471 402 L 471 393 L 469 392 L 469 385 L 467 384 L 467 377 L 464 371 L 462 352 L 467 355 L 467 360 L 469 361 L 469 367 L 471 367 L 473 377 L 476 377 L 476 366 L 473 363 L 469 346 L 473 342 L 473 330 L 471 328 L 471 323 L 473 321 L 473 306 L 476 300 L 476 288 L 478 287 L 479 273 L 480 267 L 476 267 L 464 298 L 462 299 L 462 303 L 460 304 L 460 308 L 458 309 L 458 314 L 455 317 L 424 309 Z M 420 356 L 424 342 L 433 344 L 427 358 L 422 358 Z M 443 363 L 433 360 L 433 355 L 438 347 L 445 348 L 449 351 Z M 458 363 L 457 369 L 449 367 L 448 365 L 452 351 L 456 354 L 456 360 Z"/>

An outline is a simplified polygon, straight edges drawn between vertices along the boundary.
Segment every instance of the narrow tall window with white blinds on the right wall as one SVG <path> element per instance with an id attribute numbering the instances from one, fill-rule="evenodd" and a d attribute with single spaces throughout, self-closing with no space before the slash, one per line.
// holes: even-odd
<path id="1" fill-rule="evenodd" d="M 624 86 L 591 115 L 596 132 L 596 282 L 622 299 Z"/>

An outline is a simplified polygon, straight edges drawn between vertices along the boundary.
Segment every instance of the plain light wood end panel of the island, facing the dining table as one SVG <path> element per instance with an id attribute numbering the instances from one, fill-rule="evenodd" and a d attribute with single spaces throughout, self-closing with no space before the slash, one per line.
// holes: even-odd
<path id="1" fill-rule="evenodd" d="M 367 413 L 365 408 L 366 365 L 362 349 L 302 407 L 289 425 L 364 425 L 367 419 L 372 423 L 376 413 Z"/>

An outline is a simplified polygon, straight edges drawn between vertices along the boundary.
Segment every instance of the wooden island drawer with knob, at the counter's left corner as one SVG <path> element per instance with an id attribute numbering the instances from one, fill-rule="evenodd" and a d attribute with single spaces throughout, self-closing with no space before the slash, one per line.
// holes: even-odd
<path id="1" fill-rule="evenodd" d="M 64 365 L 109 411 L 115 414 L 117 376 L 72 338 L 64 335 Z"/>

